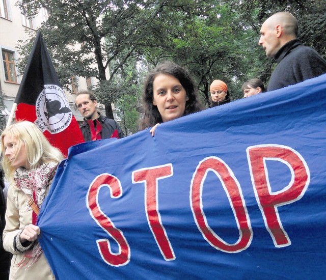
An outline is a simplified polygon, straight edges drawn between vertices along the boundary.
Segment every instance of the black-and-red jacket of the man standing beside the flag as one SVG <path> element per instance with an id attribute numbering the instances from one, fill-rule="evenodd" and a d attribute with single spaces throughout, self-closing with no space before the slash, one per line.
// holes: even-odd
<path id="1" fill-rule="evenodd" d="M 109 119 L 106 116 L 103 116 L 99 114 L 98 120 L 102 123 L 102 130 L 100 132 L 101 138 L 106 139 L 106 138 L 111 138 L 113 132 L 115 130 L 118 131 L 119 137 L 123 138 L 124 134 L 118 125 L 118 123 L 115 120 Z M 80 129 L 82 130 L 84 139 L 86 142 L 92 141 L 92 136 L 91 136 L 91 129 L 87 121 L 84 119 L 84 122 L 80 126 Z"/>

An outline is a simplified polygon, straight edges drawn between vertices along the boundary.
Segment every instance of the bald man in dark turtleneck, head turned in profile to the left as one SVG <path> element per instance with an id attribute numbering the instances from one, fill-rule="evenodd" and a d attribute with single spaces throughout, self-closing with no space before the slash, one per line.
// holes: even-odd
<path id="1" fill-rule="evenodd" d="M 276 13 L 261 25 L 261 45 L 267 57 L 278 65 L 271 74 L 267 91 L 281 89 L 326 73 L 326 61 L 311 47 L 297 40 L 298 23 L 288 12 Z"/>

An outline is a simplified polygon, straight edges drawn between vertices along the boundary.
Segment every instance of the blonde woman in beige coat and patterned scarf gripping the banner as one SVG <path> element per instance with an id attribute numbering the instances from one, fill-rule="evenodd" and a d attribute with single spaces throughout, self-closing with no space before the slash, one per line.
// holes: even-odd
<path id="1" fill-rule="evenodd" d="M 37 240 L 36 222 L 63 155 L 27 121 L 5 129 L 1 147 L 5 178 L 10 182 L 3 234 L 4 248 L 13 254 L 9 278 L 54 279 Z"/>

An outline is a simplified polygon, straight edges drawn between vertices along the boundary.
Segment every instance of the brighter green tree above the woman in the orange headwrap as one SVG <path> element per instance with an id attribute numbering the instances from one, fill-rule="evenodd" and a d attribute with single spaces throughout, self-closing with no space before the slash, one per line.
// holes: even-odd
<path id="1" fill-rule="evenodd" d="M 186 66 L 206 103 L 213 79 L 226 81 L 231 92 L 236 91 L 245 70 L 242 33 L 233 23 L 237 15 L 222 2 L 178 3 L 164 7 L 151 22 L 152 37 L 146 38 L 143 49 L 146 59 L 154 65 L 173 60 Z"/>

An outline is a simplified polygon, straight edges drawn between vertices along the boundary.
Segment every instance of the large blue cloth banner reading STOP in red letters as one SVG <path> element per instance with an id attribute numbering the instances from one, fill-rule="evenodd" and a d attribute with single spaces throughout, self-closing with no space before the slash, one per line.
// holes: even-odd
<path id="1" fill-rule="evenodd" d="M 43 203 L 59 279 L 326 273 L 326 75 L 73 146 Z"/>

